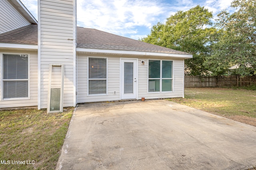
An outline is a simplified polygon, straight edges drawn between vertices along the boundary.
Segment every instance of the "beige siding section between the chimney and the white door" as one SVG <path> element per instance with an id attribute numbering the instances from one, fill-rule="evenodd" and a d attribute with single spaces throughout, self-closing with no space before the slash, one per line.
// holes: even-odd
<path id="1" fill-rule="evenodd" d="M 89 57 L 106 57 L 107 58 L 107 95 L 88 96 L 87 94 L 87 57 L 88 55 L 78 54 L 77 57 L 77 102 L 100 102 L 114 101 L 120 99 L 120 59 L 119 57 L 111 57 L 104 55 L 89 55 Z M 114 95 L 114 91 L 116 94 Z"/>

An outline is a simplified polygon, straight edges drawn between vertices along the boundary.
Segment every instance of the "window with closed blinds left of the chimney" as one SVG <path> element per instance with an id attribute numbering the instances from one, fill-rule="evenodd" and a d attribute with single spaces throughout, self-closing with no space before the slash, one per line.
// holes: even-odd
<path id="1" fill-rule="evenodd" d="M 28 55 L 3 54 L 3 99 L 28 98 Z"/>

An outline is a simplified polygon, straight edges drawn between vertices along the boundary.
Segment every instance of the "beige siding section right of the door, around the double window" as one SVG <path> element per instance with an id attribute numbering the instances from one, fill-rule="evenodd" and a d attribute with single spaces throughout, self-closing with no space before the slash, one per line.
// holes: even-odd
<path id="1" fill-rule="evenodd" d="M 148 59 L 161 59 L 173 61 L 173 87 L 172 92 L 148 92 Z M 145 64 L 140 64 L 144 60 Z M 138 68 L 138 99 L 178 98 L 183 97 L 183 59 L 167 57 L 139 58 Z"/>

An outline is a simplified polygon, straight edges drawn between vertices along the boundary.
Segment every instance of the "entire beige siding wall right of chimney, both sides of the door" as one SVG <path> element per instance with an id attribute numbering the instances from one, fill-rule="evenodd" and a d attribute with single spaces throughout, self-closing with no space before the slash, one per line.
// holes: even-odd
<path id="1" fill-rule="evenodd" d="M 146 99 L 158 99 L 158 98 L 176 98 L 183 97 L 183 59 L 176 59 L 171 57 L 129 57 L 129 56 L 110 56 L 110 55 L 97 55 L 98 57 L 108 58 L 108 95 L 104 96 L 88 96 L 87 95 L 87 57 L 95 55 L 78 54 L 77 57 L 77 102 L 100 102 L 100 101 L 114 101 L 120 100 L 120 58 L 138 59 L 138 99 L 142 97 Z M 173 61 L 173 91 L 172 92 L 148 92 L 148 59 L 162 59 Z M 141 64 L 141 61 L 145 61 L 145 64 Z M 113 92 L 116 91 L 116 95 Z"/>

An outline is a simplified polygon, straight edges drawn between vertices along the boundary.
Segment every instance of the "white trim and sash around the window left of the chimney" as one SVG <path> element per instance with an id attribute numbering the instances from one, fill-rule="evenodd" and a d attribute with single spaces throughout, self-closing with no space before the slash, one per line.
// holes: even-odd
<path id="1" fill-rule="evenodd" d="M 7 80 L 27 80 L 28 81 L 28 97 L 25 98 L 4 98 L 4 81 L 6 81 L 5 79 L 3 79 L 4 77 L 4 66 L 3 66 L 3 55 L 4 54 L 10 54 L 10 55 L 28 55 L 28 78 L 27 79 L 7 79 Z M 0 61 L 1 61 L 1 98 L 0 101 L 14 101 L 14 100 L 30 100 L 30 54 L 25 54 L 25 53 L 0 53 Z"/>

